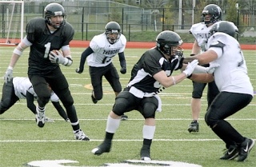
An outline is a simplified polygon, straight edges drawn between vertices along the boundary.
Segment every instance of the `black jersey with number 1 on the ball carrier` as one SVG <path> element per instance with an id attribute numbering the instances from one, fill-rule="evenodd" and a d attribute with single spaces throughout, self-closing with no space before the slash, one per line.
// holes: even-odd
<path id="1" fill-rule="evenodd" d="M 69 45 L 73 37 L 74 28 L 68 22 L 51 33 L 44 18 L 31 19 L 26 25 L 26 38 L 32 43 L 28 74 L 47 74 L 54 70 L 58 64 L 50 62 L 50 51 Z"/>

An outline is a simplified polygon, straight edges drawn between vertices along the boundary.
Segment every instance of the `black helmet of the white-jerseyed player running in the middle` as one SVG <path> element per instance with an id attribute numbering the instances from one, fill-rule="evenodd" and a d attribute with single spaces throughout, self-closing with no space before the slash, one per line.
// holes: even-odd
<path id="1" fill-rule="evenodd" d="M 118 42 L 118 39 L 121 36 L 121 27 L 118 24 L 118 22 L 108 22 L 105 26 L 105 34 L 106 39 L 110 44 L 114 44 L 115 42 Z M 113 36 L 113 34 L 116 34 Z"/>

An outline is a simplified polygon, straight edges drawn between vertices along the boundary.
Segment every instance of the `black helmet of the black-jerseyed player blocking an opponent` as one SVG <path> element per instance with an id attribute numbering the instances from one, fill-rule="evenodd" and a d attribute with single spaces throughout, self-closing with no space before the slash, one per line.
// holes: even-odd
<path id="1" fill-rule="evenodd" d="M 156 38 L 157 48 L 163 54 L 167 54 L 170 58 L 175 56 L 182 57 L 183 49 L 179 46 L 183 44 L 182 38 L 171 30 L 162 31 Z M 173 47 L 178 47 L 178 50 L 173 50 Z"/>

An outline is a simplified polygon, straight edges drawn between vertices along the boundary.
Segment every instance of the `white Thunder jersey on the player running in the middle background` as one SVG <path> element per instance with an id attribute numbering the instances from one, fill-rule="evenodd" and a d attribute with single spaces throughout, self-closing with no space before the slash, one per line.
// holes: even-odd
<path id="1" fill-rule="evenodd" d="M 121 34 L 118 42 L 111 45 L 106 39 L 105 33 L 99 34 L 90 41 L 90 48 L 94 50 L 94 53 L 87 57 L 88 66 L 107 66 L 112 62 L 112 58 L 116 54 L 122 53 L 125 50 L 126 37 Z"/>

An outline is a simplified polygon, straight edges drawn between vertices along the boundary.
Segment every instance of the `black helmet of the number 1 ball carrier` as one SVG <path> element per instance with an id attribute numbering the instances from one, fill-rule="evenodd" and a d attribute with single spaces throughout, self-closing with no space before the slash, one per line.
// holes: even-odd
<path id="1" fill-rule="evenodd" d="M 46 23 L 49 26 L 53 26 L 54 29 L 58 29 L 61 26 L 64 26 L 66 23 L 66 12 L 64 10 L 64 7 L 58 3 L 50 3 L 45 7 L 44 10 L 45 13 L 45 19 L 46 19 Z M 52 22 L 50 20 L 51 17 L 53 16 L 62 16 L 63 20 L 62 22 Z M 56 24 L 59 23 L 59 24 Z"/>

